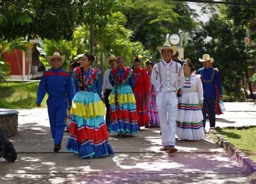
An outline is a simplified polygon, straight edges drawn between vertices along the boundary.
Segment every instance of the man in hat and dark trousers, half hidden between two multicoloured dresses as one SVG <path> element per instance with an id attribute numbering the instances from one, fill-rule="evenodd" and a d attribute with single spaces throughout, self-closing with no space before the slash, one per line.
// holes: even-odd
<path id="1" fill-rule="evenodd" d="M 106 70 L 103 77 L 103 86 L 102 86 L 102 101 L 106 105 L 106 126 L 107 129 L 109 129 L 109 123 L 110 123 L 110 117 L 109 117 L 109 111 L 110 111 L 110 104 L 109 104 L 109 95 L 112 91 L 112 85 L 109 82 L 109 75 L 113 68 L 117 66 L 117 58 L 115 55 L 111 54 L 110 57 L 107 59 L 107 65 L 110 66 L 109 70 Z"/>

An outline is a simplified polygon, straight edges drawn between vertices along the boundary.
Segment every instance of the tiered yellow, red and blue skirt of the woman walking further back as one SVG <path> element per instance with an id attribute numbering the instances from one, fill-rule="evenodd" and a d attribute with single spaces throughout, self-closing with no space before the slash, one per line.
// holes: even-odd
<path id="1" fill-rule="evenodd" d="M 117 88 L 118 105 L 114 103 L 114 89 L 109 96 L 111 133 L 138 133 L 139 116 L 136 110 L 136 101 L 130 85 Z"/>

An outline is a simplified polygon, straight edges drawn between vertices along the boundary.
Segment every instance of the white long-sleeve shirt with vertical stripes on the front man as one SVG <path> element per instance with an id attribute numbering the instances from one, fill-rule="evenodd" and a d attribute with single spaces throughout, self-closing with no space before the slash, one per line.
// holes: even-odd
<path id="1" fill-rule="evenodd" d="M 183 68 L 180 63 L 172 61 L 166 63 L 164 60 L 156 63 L 153 67 L 151 82 L 157 91 L 176 91 L 185 82 Z"/>

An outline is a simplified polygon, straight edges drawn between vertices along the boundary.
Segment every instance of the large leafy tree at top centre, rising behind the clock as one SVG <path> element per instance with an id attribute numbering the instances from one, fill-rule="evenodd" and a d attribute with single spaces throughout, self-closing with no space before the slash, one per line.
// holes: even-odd
<path id="1" fill-rule="evenodd" d="M 156 47 L 163 45 L 167 33 L 189 32 L 197 25 L 197 13 L 186 3 L 166 0 L 126 0 L 126 27 L 133 31 L 133 41 L 140 41 L 156 57 Z"/>

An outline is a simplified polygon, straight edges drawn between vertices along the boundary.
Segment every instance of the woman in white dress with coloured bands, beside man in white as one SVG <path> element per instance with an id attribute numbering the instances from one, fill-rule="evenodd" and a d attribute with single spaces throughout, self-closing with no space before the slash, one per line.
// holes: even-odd
<path id="1" fill-rule="evenodd" d="M 190 60 L 185 60 L 183 70 L 185 83 L 179 97 L 176 133 L 182 140 L 200 140 L 204 137 L 203 84 L 200 75 L 192 74 L 195 68 Z"/>

